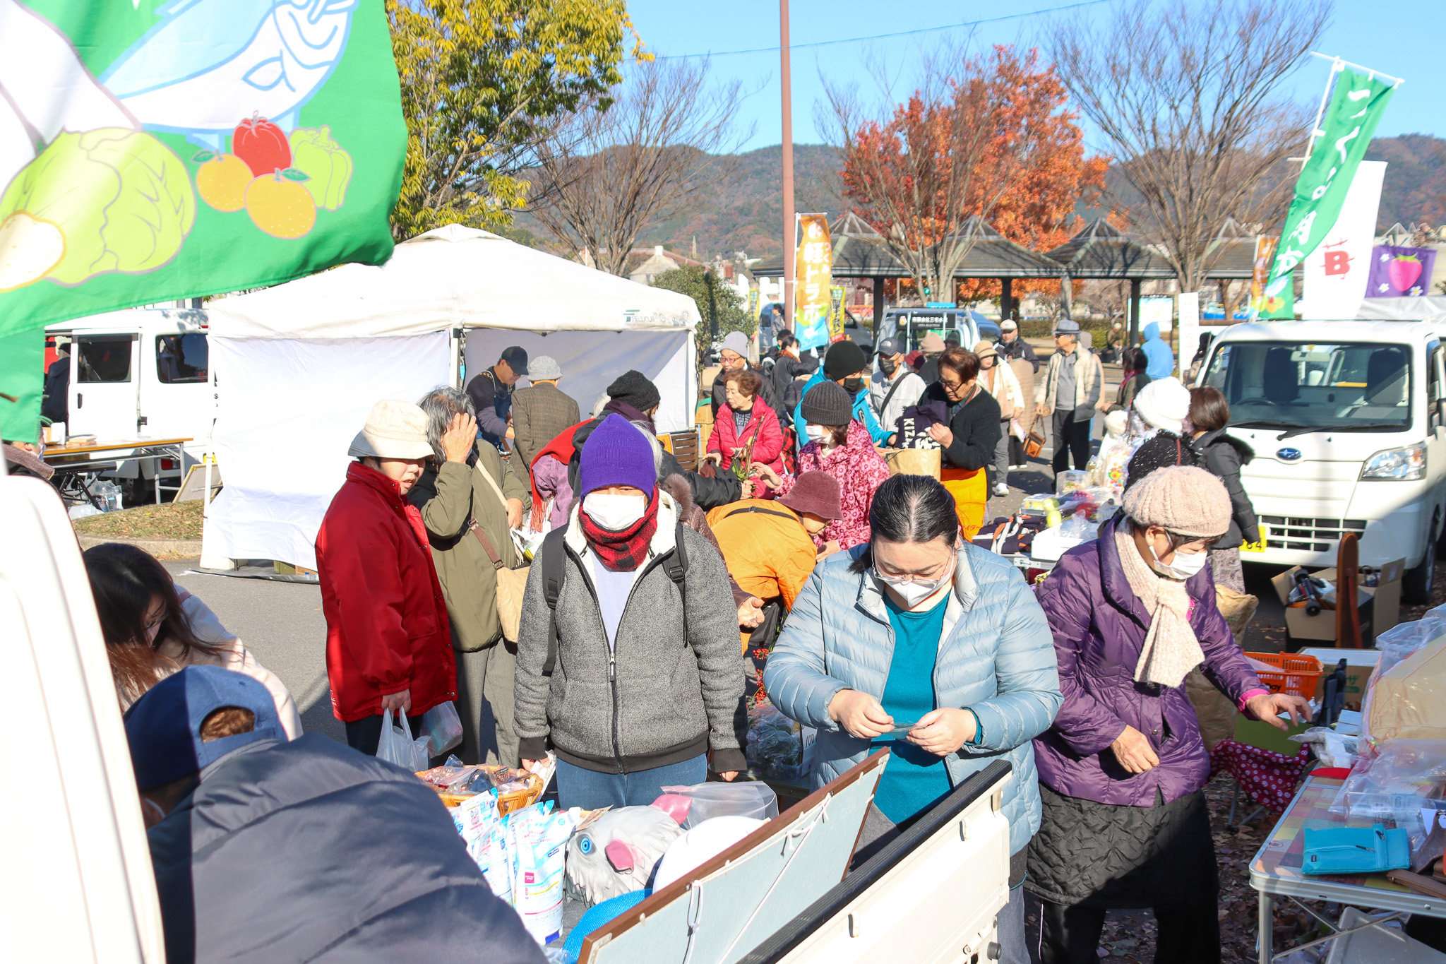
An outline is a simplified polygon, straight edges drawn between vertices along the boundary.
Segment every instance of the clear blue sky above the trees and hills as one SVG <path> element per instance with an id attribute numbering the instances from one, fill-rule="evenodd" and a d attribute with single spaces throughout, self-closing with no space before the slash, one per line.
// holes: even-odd
<path id="1" fill-rule="evenodd" d="M 803 48 L 798 45 L 866 35 L 938 27 L 966 20 L 980 20 L 1015 13 L 1048 12 L 1070 0 L 914 0 L 894 6 L 878 0 L 791 0 L 794 81 L 794 143 L 823 143 L 814 126 L 814 104 L 823 97 L 820 74 L 830 81 L 857 82 L 860 91 L 876 91 L 865 69 L 865 58 L 882 59 L 898 77 L 898 91 L 911 90 L 910 71 L 921 51 L 940 38 L 966 38 L 967 29 L 940 30 L 862 43 L 836 43 Z M 1122 10 L 1138 10 L 1138 0 L 1112 0 L 1087 7 L 1086 16 L 1106 19 Z M 648 49 L 659 55 L 723 52 L 775 48 L 761 53 L 714 55 L 711 69 L 719 78 L 742 79 L 753 91 L 745 101 L 740 121 L 753 124 L 745 149 L 777 145 L 781 134 L 781 97 L 778 71 L 778 3 L 739 0 L 732 4 L 677 3 L 677 0 L 632 0 L 633 23 Z M 1056 14 L 1058 16 L 1058 14 Z M 988 49 L 992 43 L 1030 46 L 1038 42 L 1051 16 L 1041 13 L 1015 20 L 973 27 L 970 45 Z M 1432 0 L 1413 4 L 1392 16 L 1388 4 L 1342 0 L 1320 45 L 1323 53 L 1355 61 L 1369 68 L 1406 78 L 1397 90 L 1378 137 L 1403 133 L 1446 134 L 1446 98 L 1440 95 L 1440 39 L 1446 36 L 1446 3 Z M 1327 75 L 1327 62 L 1307 64 L 1297 75 L 1303 97 L 1319 97 Z M 1100 149 L 1086 137 L 1090 147 Z"/>

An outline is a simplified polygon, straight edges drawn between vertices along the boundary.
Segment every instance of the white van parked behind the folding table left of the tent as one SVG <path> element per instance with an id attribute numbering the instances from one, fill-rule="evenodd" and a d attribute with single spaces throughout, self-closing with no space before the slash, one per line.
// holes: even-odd
<path id="1" fill-rule="evenodd" d="M 100 441 L 191 438 L 184 464 L 161 462 L 161 477 L 178 486 L 205 452 L 215 419 L 205 311 L 113 311 L 48 325 L 45 334 L 71 340 L 67 432 Z M 134 497 L 149 491 L 155 471 L 153 460 L 126 460 L 106 475 L 136 489 Z"/>

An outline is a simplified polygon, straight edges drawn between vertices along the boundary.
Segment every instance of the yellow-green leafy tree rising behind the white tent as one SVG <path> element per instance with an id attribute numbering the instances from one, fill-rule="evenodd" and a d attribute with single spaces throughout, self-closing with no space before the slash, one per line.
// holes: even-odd
<path id="1" fill-rule="evenodd" d="M 649 59 L 625 0 L 386 0 L 386 14 L 408 134 L 398 238 L 510 224 L 557 119 L 609 107 L 629 36 Z"/>

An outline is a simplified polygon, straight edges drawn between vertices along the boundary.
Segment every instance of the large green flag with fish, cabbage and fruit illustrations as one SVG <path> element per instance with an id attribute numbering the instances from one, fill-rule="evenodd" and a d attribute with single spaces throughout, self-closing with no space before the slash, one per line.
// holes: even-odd
<path id="1" fill-rule="evenodd" d="M 0 0 L 0 337 L 382 263 L 405 149 L 382 0 Z"/>

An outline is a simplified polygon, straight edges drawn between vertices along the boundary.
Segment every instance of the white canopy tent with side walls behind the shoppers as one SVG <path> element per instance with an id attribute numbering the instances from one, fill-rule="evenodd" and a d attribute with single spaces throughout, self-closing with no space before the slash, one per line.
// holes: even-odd
<path id="1" fill-rule="evenodd" d="M 396 246 L 380 267 L 344 264 L 208 306 L 217 389 L 213 449 L 226 487 L 205 525 L 205 564 L 315 567 L 314 542 L 379 399 L 416 400 L 521 344 L 562 367 L 583 415 L 638 369 L 662 393 L 659 431 L 693 425 L 691 298 L 506 238 L 448 225 Z"/>

